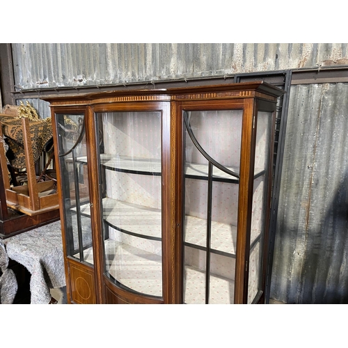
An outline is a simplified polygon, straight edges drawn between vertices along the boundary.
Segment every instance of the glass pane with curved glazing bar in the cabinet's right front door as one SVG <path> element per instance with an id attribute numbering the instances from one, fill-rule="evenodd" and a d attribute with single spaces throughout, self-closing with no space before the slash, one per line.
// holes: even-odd
<path id="1" fill-rule="evenodd" d="M 184 111 L 184 303 L 233 303 L 242 110 Z"/>

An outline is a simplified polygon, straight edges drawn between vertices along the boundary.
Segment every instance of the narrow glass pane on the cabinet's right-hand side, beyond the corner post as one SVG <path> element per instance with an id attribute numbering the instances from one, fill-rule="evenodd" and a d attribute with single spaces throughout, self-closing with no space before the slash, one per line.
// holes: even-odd
<path id="1" fill-rule="evenodd" d="M 253 303 L 261 289 L 262 246 L 267 212 L 267 182 L 269 180 L 269 146 L 271 143 L 271 113 L 258 112 L 255 142 L 255 169 L 251 216 L 251 249 L 249 258 L 248 303 Z"/>

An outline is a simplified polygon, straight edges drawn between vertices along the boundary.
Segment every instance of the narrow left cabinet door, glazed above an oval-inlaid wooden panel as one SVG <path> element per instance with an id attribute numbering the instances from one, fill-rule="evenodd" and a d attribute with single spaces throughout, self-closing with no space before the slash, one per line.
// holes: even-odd
<path id="1" fill-rule="evenodd" d="M 68 301 L 95 303 L 86 117 L 81 110 L 56 111 L 54 122 Z"/>

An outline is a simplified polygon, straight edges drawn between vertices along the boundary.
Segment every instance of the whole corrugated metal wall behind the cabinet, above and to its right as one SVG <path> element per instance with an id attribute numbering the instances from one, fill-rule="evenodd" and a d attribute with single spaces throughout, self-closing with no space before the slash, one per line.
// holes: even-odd
<path id="1" fill-rule="evenodd" d="M 24 90 L 348 64 L 347 44 L 12 45 Z M 347 88 L 292 86 L 271 283 L 279 301 L 348 303 Z M 29 102 L 49 116 L 47 103 Z"/>

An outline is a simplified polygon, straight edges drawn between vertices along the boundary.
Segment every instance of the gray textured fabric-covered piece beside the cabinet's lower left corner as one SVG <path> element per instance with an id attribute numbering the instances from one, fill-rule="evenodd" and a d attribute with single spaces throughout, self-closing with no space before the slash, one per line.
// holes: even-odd
<path id="1" fill-rule="evenodd" d="M 65 286 L 61 221 L 4 239 L 8 257 L 31 273 L 31 303 L 49 303 L 49 289 Z"/>

